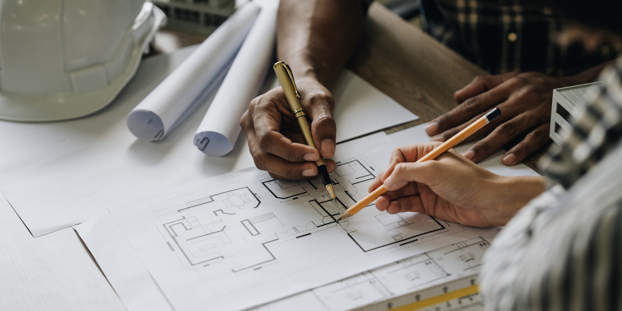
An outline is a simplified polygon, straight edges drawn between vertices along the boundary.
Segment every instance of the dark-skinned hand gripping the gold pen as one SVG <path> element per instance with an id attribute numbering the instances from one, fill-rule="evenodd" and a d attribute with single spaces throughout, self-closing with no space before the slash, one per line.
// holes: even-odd
<path id="1" fill-rule="evenodd" d="M 336 126 L 333 120 L 335 101 L 330 91 L 313 79 L 296 81 L 300 104 L 311 121 L 313 142 L 307 146 L 294 119 L 281 86 L 251 101 L 239 123 L 248 138 L 255 165 L 275 179 L 310 179 L 315 177 L 318 155 L 335 155 Z M 329 172 L 335 161 L 326 159 Z"/>

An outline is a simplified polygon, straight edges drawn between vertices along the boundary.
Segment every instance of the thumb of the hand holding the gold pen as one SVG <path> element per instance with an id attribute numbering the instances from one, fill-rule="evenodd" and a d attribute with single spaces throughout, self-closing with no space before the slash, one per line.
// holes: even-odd
<path id="1" fill-rule="evenodd" d="M 337 125 L 333 118 L 334 106 L 333 95 L 325 92 L 312 96 L 305 106 L 311 119 L 313 143 L 323 157 L 335 156 Z"/>

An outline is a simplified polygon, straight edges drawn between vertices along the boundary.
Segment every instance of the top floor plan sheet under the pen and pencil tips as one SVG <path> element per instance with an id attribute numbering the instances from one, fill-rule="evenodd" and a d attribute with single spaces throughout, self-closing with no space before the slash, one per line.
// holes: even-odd
<path id="1" fill-rule="evenodd" d="M 318 179 L 248 169 L 111 211 L 180 310 L 253 307 L 492 231 L 374 206 L 337 223 L 381 172 L 363 154 L 337 165 L 336 201 Z"/>

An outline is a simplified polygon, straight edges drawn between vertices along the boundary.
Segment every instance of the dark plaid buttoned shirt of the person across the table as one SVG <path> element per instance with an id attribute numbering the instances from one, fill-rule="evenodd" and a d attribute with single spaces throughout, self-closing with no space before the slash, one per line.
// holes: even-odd
<path id="1" fill-rule="evenodd" d="M 356 0 L 367 11 L 371 0 Z M 521 0 L 419 0 L 428 34 L 491 74 L 542 72 L 575 75 L 608 62 L 622 46 L 603 44 L 587 52 L 582 44 L 555 40 L 567 21 Z"/>

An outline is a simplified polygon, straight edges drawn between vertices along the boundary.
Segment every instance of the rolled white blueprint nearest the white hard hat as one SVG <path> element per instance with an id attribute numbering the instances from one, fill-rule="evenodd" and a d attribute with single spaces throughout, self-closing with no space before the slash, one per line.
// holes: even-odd
<path id="1" fill-rule="evenodd" d="M 158 141 L 195 106 L 202 92 L 226 70 L 259 14 L 259 6 L 247 2 L 198 46 L 128 115 L 134 136 Z"/>

